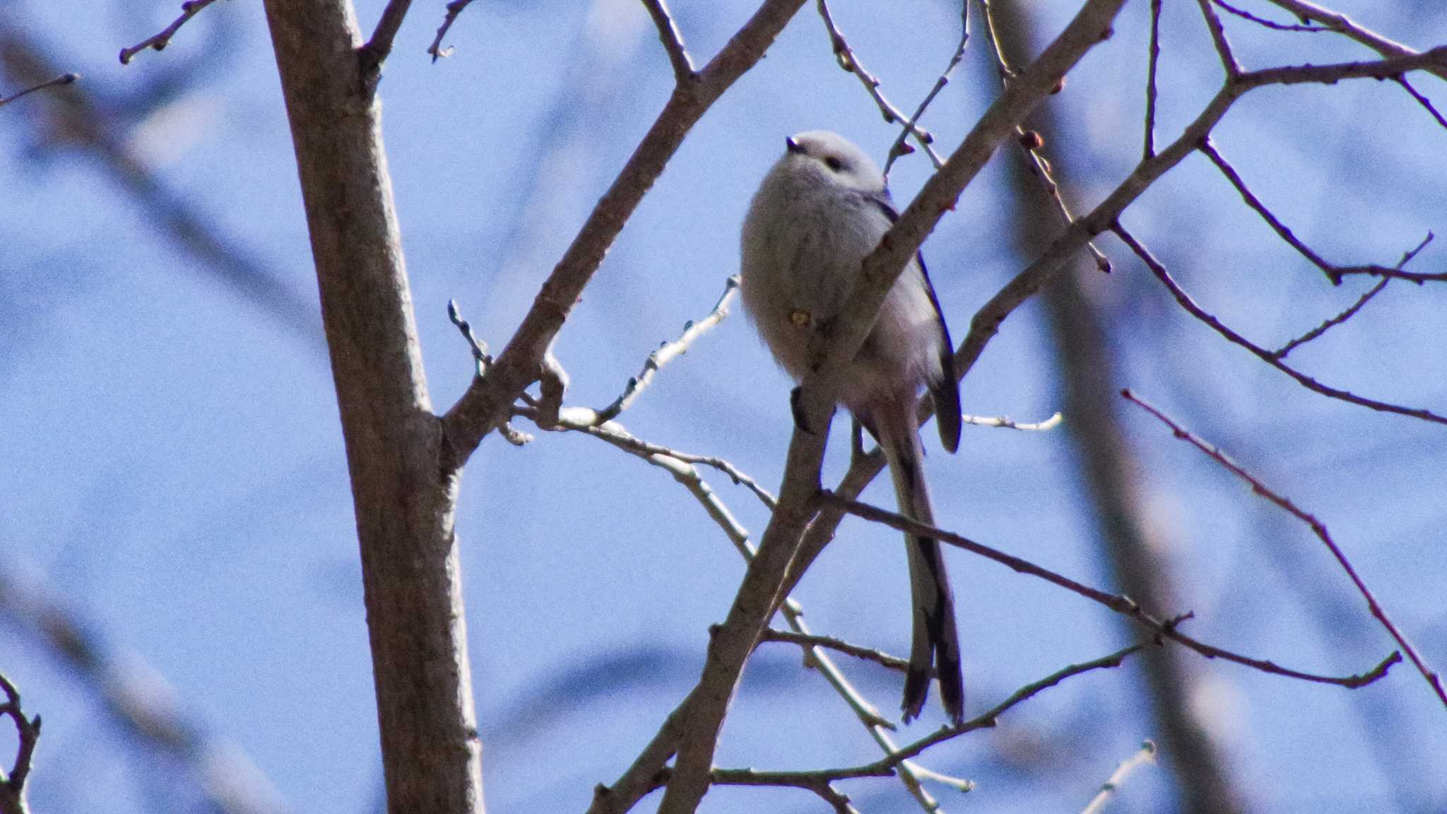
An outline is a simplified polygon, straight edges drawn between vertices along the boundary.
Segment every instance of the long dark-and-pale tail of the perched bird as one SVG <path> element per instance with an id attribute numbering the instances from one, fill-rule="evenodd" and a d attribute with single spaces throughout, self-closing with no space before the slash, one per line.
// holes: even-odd
<path id="1" fill-rule="evenodd" d="M 890 463 L 894 494 L 900 514 L 920 523 L 935 524 L 935 511 L 925 484 L 925 449 L 919 440 L 919 424 L 913 404 L 891 406 L 884 414 L 873 414 L 880 446 Z M 919 716 L 929 695 L 930 666 L 939 676 L 939 694 L 949 720 L 964 718 L 965 687 L 959 671 L 959 633 L 955 629 L 955 597 L 949 589 L 949 575 L 939 542 L 929 537 L 904 536 L 909 553 L 909 584 L 913 605 L 913 637 L 909 671 L 904 675 L 904 720 Z"/>

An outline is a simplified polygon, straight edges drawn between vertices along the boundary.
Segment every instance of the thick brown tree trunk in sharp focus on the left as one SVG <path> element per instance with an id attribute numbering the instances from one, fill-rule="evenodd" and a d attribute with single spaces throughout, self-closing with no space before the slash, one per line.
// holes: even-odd
<path id="1" fill-rule="evenodd" d="M 346 0 L 266 0 L 266 22 L 346 437 L 388 810 L 482 811 L 457 472 L 440 463 L 356 14 Z"/>

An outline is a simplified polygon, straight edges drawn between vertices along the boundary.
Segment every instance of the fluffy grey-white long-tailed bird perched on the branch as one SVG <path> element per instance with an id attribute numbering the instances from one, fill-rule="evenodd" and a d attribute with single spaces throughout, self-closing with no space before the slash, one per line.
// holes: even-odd
<path id="1" fill-rule="evenodd" d="M 742 235 L 744 309 L 774 359 L 796 381 L 809 372 L 809 340 L 858 280 L 864 258 L 899 217 L 884 177 L 844 138 L 812 130 L 784 140 L 764 177 Z M 945 449 L 959 446 L 959 385 L 939 300 L 916 256 L 841 377 L 839 403 L 878 440 L 903 514 L 935 523 L 916 420 L 920 390 L 935 397 Z M 964 716 L 955 601 L 939 543 L 906 537 L 915 627 L 904 678 L 904 720 L 919 716 L 930 666 L 951 720 Z"/>

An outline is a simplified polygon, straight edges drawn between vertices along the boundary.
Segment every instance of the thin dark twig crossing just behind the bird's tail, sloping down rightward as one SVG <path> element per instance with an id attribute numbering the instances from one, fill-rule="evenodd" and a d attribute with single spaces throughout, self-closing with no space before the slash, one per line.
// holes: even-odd
<path id="1" fill-rule="evenodd" d="M 993 549 L 990 546 L 977 543 L 977 542 L 969 540 L 967 537 L 961 537 L 959 534 L 955 534 L 954 532 L 945 532 L 943 529 L 936 529 L 935 526 L 928 526 L 925 523 L 919 523 L 919 521 L 910 520 L 909 517 L 904 517 L 903 514 L 899 514 L 896 511 L 887 511 L 887 510 L 880 508 L 877 505 L 870 505 L 867 503 L 860 503 L 860 501 L 855 501 L 855 500 L 848 500 L 848 498 L 839 497 L 839 495 L 831 492 L 829 490 L 820 490 L 819 500 L 823 501 L 823 503 L 826 503 L 826 504 L 835 505 L 835 507 L 838 507 L 838 508 L 841 508 L 844 511 L 848 511 L 849 514 L 854 514 L 857 517 L 862 517 L 865 520 L 873 520 L 875 523 L 883 523 L 883 524 L 886 524 L 886 526 L 888 526 L 891 529 L 897 529 L 900 532 L 904 532 L 906 534 L 916 534 L 916 536 L 922 536 L 922 537 L 932 537 L 932 539 L 939 540 L 942 543 L 948 543 L 951 546 L 965 549 L 967 552 L 977 553 L 977 555 L 980 555 L 980 556 L 983 556 L 985 559 L 991 559 L 994 562 L 998 562 L 1000 565 L 1011 568 L 1016 572 L 1029 574 L 1030 576 L 1039 576 L 1040 579 L 1045 579 L 1046 582 L 1051 582 L 1053 585 L 1059 585 L 1061 588 L 1065 588 L 1066 591 L 1071 591 L 1074 594 L 1079 594 L 1079 595 L 1085 597 L 1087 600 L 1100 603 L 1100 604 L 1106 605 L 1107 608 L 1110 608 L 1110 610 L 1113 610 L 1113 611 L 1116 611 L 1116 613 L 1119 613 L 1121 616 L 1126 616 L 1126 617 L 1134 620 L 1142 627 L 1146 627 L 1146 629 L 1152 630 L 1156 636 L 1162 636 L 1165 639 L 1171 639 L 1172 642 L 1178 642 L 1181 645 L 1185 645 L 1187 647 L 1195 650 L 1197 653 L 1201 653 L 1202 656 L 1205 656 L 1208 659 L 1224 659 L 1224 660 L 1229 660 L 1229 662 L 1236 662 L 1239 665 L 1244 665 L 1244 666 L 1249 666 L 1249 668 L 1259 669 L 1262 672 L 1269 672 L 1272 675 L 1283 675 L 1286 678 L 1297 678 L 1297 679 L 1301 679 L 1301 681 L 1311 681 L 1311 682 L 1315 682 L 1315 684 L 1334 684 L 1337 687 L 1346 687 L 1349 689 L 1356 689 L 1359 687 L 1366 687 L 1367 684 L 1372 684 L 1373 681 L 1376 681 L 1376 679 L 1382 678 L 1383 675 L 1386 675 L 1386 671 L 1391 669 L 1392 665 L 1395 665 L 1396 662 L 1402 660 L 1402 655 L 1401 653 L 1392 652 L 1392 655 L 1389 655 L 1386 659 L 1383 659 L 1380 663 L 1378 663 L 1370 671 L 1367 671 L 1365 674 L 1360 674 L 1360 675 L 1349 675 L 1349 676 L 1317 675 L 1317 674 L 1301 672 L 1301 671 L 1283 668 L 1283 666 L 1276 665 L 1275 662 L 1270 662 L 1270 660 L 1253 659 L 1250 656 L 1243 656 L 1240 653 L 1234 653 L 1234 652 L 1217 647 L 1214 645 L 1207 645 L 1204 642 L 1200 642 L 1200 640 L 1197 640 L 1197 639 L 1194 639 L 1191 636 L 1187 636 L 1185 633 L 1181 633 L 1181 630 L 1178 630 L 1178 627 L 1176 627 L 1176 620 L 1160 621 L 1160 620 L 1152 617 L 1150 614 L 1147 614 L 1140 605 L 1137 605 L 1134 603 L 1134 600 L 1132 600 L 1129 597 L 1121 597 L 1119 594 L 1107 594 L 1106 591 L 1100 591 L 1097 588 L 1091 588 L 1090 585 L 1085 585 L 1082 582 L 1077 582 L 1077 581 L 1071 579 L 1069 576 L 1062 576 L 1062 575 L 1059 575 L 1059 574 L 1056 574 L 1053 571 L 1049 571 L 1046 568 L 1035 565 L 1033 562 L 1030 562 L 1027 559 L 1020 559 L 1017 556 L 1007 555 L 1007 553 L 1004 553 L 1004 552 L 1001 552 L 998 549 Z"/>

